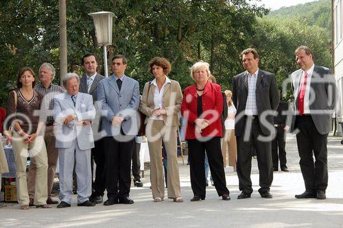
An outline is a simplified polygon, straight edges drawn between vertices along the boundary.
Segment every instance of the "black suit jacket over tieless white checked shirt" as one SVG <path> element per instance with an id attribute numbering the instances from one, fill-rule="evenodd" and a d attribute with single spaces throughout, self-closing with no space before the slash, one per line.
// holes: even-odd
<path id="1" fill-rule="evenodd" d="M 244 134 L 244 111 L 248 99 L 248 74 L 246 71 L 233 77 L 233 103 L 237 109 L 235 118 L 235 135 Z M 276 110 L 279 105 L 280 96 L 274 74 L 259 69 L 256 82 L 256 103 L 261 131 L 266 136 L 274 129 L 274 116 L 265 116 L 266 123 L 261 121 L 261 114 L 264 111 Z M 269 125 L 269 126 L 268 126 Z"/>

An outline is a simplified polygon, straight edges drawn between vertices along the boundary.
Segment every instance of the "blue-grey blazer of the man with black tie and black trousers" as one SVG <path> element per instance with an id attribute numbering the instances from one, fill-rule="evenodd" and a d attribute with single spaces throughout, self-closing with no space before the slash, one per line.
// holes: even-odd
<path id="1" fill-rule="evenodd" d="M 113 116 L 123 116 L 125 121 L 121 123 L 123 133 L 128 136 L 136 136 L 138 133 L 139 115 L 139 83 L 138 81 L 123 76 L 121 90 L 117 86 L 117 77 L 112 75 L 102 81 L 99 81 L 97 87 L 97 98 L 99 107 L 102 110 L 102 136 L 117 136 L 120 133 L 120 127 L 112 125 Z"/>

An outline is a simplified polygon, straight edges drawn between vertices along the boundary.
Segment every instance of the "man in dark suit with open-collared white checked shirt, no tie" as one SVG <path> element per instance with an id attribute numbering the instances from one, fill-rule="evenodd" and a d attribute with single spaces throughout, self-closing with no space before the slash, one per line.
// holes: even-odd
<path id="1" fill-rule="evenodd" d="M 273 180 L 272 137 L 275 134 L 273 114 L 279 105 L 279 90 L 274 74 L 259 69 L 259 54 L 255 49 L 242 51 L 245 72 L 233 77 L 233 103 L 237 108 L 235 135 L 237 140 L 238 199 L 250 198 L 252 151 L 259 164 L 259 193 L 272 198 Z"/>

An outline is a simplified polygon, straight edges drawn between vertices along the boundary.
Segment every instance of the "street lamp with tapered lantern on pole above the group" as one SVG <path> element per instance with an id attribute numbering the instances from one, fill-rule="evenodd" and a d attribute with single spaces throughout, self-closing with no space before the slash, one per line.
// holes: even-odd
<path id="1" fill-rule="evenodd" d="M 108 77 L 107 68 L 107 45 L 112 45 L 112 21 L 113 12 L 95 12 L 88 14 L 93 17 L 95 36 L 97 37 L 97 45 L 102 46 L 104 49 L 104 66 L 105 66 L 105 76 Z"/>

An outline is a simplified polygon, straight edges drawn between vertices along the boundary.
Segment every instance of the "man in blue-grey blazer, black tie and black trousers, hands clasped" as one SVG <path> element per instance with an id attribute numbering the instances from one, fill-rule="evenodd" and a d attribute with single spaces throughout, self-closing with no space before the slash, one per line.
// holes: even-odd
<path id="1" fill-rule="evenodd" d="M 125 75 L 128 61 L 123 55 L 112 59 L 113 75 L 99 81 L 97 97 L 102 106 L 102 133 L 106 158 L 104 205 L 132 204 L 129 198 L 130 165 L 134 136 L 138 133 L 139 83 Z M 119 183 L 119 185 L 118 185 Z M 119 189 L 118 189 L 119 186 Z"/>

